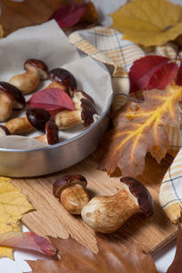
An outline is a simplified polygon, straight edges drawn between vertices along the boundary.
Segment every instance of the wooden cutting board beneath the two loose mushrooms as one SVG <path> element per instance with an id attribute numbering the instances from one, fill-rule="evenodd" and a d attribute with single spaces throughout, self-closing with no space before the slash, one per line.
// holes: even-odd
<path id="1" fill-rule="evenodd" d="M 123 227 L 109 235 L 110 239 L 117 239 L 124 245 L 135 241 L 147 253 L 154 254 L 176 237 L 177 227 L 170 223 L 158 202 L 160 183 L 172 159 L 167 155 L 159 166 L 152 157 L 147 156 L 145 171 L 138 179 L 154 198 L 154 216 L 149 219 L 141 215 L 131 217 Z M 80 174 L 87 179 L 87 189 L 91 197 L 116 194 L 122 188 L 119 177 L 107 177 L 106 173 L 97 170 L 96 166 L 96 157 L 91 155 L 76 166 L 56 175 L 13 179 L 15 186 L 22 189 L 36 208 L 36 211 L 23 216 L 24 224 L 41 236 L 68 238 L 71 234 L 77 241 L 96 252 L 95 232 L 87 227 L 80 217 L 66 212 L 52 193 L 56 177 L 62 174 Z"/>

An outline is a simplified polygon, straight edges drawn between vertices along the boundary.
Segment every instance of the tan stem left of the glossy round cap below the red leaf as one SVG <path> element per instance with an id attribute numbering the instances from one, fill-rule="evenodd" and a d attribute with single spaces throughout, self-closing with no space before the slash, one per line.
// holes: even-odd
<path id="1" fill-rule="evenodd" d="M 5 124 L 11 135 L 28 133 L 34 130 L 34 127 L 29 123 L 27 117 L 17 117 L 9 120 Z"/>

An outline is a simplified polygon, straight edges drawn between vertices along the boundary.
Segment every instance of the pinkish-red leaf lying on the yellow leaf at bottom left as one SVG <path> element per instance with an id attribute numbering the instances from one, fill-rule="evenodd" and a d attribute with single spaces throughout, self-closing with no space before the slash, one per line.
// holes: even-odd
<path id="1" fill-rule="evenodd" d="M 16 249 L 33 250 L 57 258 L 57 249 L 47 239 L 33 232 L 6 232 L 0 235 L 0 246 Z"/>

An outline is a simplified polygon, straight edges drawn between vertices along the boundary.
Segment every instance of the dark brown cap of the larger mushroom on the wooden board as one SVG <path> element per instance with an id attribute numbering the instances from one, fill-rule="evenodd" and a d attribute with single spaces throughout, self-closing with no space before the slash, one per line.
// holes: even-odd
<path id="1" fill-rule="evenodd" d="M 147 188 L 132 177 L 122 177 L 120 178 L 120 181 L 129 187 L 131 194 L 136 197 L 137 202 L 146 217 L 151 217 L 153 215 L 153 199 Z"/>

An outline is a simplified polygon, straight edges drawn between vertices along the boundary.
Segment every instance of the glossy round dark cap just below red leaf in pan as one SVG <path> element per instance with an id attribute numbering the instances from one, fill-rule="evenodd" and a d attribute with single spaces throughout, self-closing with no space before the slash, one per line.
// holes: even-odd
<path id="1" fill-rule="evenodd" d="M 26 111 L 29 123 L 39 131 L 45 131 L 45 124 L 50 119 L 50 114 L 43 108 L 33 107 Z"/>

